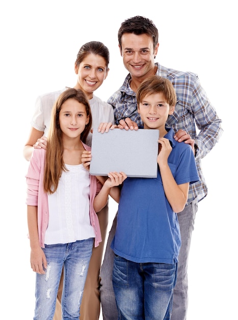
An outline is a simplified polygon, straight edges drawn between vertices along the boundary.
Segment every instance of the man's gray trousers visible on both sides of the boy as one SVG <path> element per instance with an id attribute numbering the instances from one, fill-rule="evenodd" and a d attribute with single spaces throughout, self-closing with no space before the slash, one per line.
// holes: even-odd
<path id="1" fill-rule="evenodd" d="M 187 204 L 184 210 L 178 213 L 178 220 L 181 232 L 182 246 L 179 253 L 177 283 L 174 289 L 173 308 L 171 320 L 185 320 L 187 313 L 187 266 L 188 254 L 191 245 L 192 233 L 194 230 L 195 217 L 197 212 L 197 200 Z M 115 296 L 112 287 L 112 269 L 114 252 L 110 248 L 111 241 L 115 235 L 117 215 L 115 216 L 109 232 L 106 251 L 101 267 L 101 304 L 104 320 L 117 320 Z"/>

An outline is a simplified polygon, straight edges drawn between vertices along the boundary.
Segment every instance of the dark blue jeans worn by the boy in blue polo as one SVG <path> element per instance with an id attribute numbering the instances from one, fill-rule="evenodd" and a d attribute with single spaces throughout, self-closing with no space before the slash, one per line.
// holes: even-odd
<path id="1" fill-rule="evenodd" d="M 115 255 L 112 283 L 119 318 L 170 319 L 177 263 L 136 263 Z"/>

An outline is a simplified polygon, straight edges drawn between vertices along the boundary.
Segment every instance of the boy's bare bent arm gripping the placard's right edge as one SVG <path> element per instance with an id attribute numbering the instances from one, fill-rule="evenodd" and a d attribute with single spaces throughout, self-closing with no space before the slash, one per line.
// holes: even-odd
<path id="1" fill-rule="evenodd" d="M 160 169 L 163 189 L 174 212 L 181 212 L 187 202 L 189 182 L 177 185 L 170 167 L 168 165 L 168 157 L 172 151 L 170 142 L 166 138 L 159 138 L 161 150 L 157 157 Z"/>

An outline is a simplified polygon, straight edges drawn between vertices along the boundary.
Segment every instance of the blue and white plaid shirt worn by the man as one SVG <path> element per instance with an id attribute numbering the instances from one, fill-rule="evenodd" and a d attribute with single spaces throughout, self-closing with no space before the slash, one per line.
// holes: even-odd
<path id="1" fill-rule="evenodd" d="M 177 104 L 173 115 L 166 122 L 167 127 L 172 127 L 175 132 L 185 130 L 195 140 L 196 163 L 200 181 L 189 188 L 187 203 L 195 198 L 200 201 L 207 195 L 207 186 L 201 169 L 201 159 L 215 146 L 222 135 L 221 119 L 215 108 L 210 104 L 202 88 L 199 78 L 191 72 L 181 72 L 157 66 L 156 75 L 168 78 L 174 85 L 177 94 Z M 123 85 L 109 99 L 113 106 L 115 123 L 130 118 L 142 128 L 142 122 L 137 113 L 135 92 L 130 88 L 130 74 Z M 199 133 L 197 133 L 197 129 Z"/>

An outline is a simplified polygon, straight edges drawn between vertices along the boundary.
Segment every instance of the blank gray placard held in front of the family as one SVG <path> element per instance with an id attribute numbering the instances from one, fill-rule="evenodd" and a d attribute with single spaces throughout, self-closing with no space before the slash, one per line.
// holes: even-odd
<path id="1" fill-rule="evenodd" d="M 128 177 L 157 177 L 159 130 L 113 129 L 98 132 L 93 128 L 91 175 L 107 176 L 125 172 Z"/>

